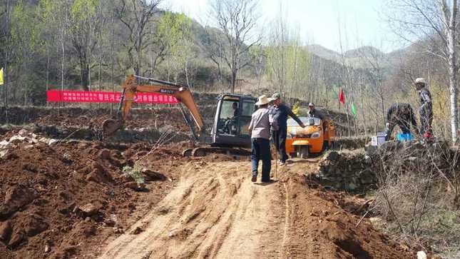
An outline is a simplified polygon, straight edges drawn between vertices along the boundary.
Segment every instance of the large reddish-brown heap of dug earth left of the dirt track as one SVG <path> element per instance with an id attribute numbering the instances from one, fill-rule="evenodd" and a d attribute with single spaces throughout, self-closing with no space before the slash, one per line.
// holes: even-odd
<path id="1" fill-rule="evenodd" d="M 0 158 L 0 258 L 70 258 L 123 233 L 168 193 L 182 163 L 180 146 L 149 153 L 143 143 L 44 140 L 24 130 L 0 139 L 9 143 Z M 123 172 L 140 157 L 146 193 L 128 188 L 135 180 Z"/>

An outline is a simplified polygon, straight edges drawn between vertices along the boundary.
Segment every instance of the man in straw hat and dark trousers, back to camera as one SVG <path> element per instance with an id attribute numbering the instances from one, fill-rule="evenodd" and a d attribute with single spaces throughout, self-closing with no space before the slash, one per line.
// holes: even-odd
<path id="1" fill-rule="evenodd" d="M 255 105 L 259 106 L 252 113 L 249 131 L 251 132 L 251 181 L 257 181 L 259 161 L 262 160 L 262 182 L 270 182 L 270 170 L 272 167 L 272 154 L 270 153 L 270 125 L 277 128 L 276 122 L 269 116 L 268 103 L 271 98 L 260 96 Z"/>

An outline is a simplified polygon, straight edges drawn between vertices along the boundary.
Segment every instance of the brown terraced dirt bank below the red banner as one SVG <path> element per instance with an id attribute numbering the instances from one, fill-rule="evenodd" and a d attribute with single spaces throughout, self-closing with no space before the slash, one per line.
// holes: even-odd
<path id="1" fill-rule="evenodd" d="M 1 113 L 1 111 L 0 111 Z M 0 123 L 5 122 L 5 114 Z M 102 139 L 102 123 L 112 118 L 106 109 L 84 108 L 21 108 L 9 109 L 8 121 L 14 125 L 4 126 L 0 133 L 11 128 L 26 128 L 34 133 L 42 133 L 51 138 L 71 138 L 86 141 Z M 185 141 L 192 138 L 190 128 L 178 108 L 133 109 L 126 125 L 111 136 L 111 141 L 121 143 L 155 143 L 163 133 L 173 135 L 173 141 Z"/>

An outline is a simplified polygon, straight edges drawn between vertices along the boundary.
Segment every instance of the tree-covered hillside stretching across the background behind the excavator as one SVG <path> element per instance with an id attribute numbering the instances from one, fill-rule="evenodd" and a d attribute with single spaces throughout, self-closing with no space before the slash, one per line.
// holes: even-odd
<path id="1" fill-rule="evenodd" d="M 282 16 L 263 33 L 255 30 L 260 23 L 256 1 L 248 1 L 244 14 L 213 5 L 213 26 L 160 9 L 160 2 L 2 1 L 2 101 L 44 105 L 46 89 L 53 88 L 118 90 L 133 69 L 140 76 L 188 84 L 194 91 L 280 91 L 287 100 L 302 98 L 347 111 L 353 131 L 374 132 L 382 129 L 391 103 L 416 104 L 412 81 L 424 76 L 438 96 L 436 128 L 449 134 L 448 70 L 421 44 L 389 54 L 370 46 L 338 53 L 305 44 Z M 235 26 L 225 27 L 231 15 L 248 21 L 239 34 L 232 31 Z M 346 106 L 337 101 L 339 88 Z"/>

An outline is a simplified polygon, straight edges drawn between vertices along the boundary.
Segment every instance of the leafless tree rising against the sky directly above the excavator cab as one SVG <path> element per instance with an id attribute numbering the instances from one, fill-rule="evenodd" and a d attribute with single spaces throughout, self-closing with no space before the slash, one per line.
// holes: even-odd
<path id="1" fill-rule="evenodd" d="M 222 54 L 231 71 L 232 93 L 238 71 L 250 64 L 250 48 L 260 43 L 260 38 L 252 35 L 258 19 L 257 4 L 257 0 L 213 0 L 211 4 L 211 15 L 225 34 Z"/>

